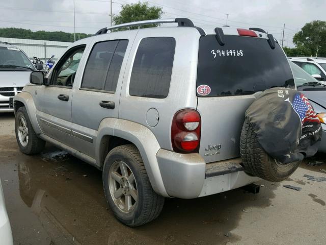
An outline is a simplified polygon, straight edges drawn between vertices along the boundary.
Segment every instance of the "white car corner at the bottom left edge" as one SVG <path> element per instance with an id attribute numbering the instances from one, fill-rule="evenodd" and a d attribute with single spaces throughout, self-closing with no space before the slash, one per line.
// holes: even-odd
<path id="1" fill-rule="evenodd" d="M 5 205 L 4 192 L 0 180 L 0 244 L 13 245 L 12 233 L 9 218 Z"/>

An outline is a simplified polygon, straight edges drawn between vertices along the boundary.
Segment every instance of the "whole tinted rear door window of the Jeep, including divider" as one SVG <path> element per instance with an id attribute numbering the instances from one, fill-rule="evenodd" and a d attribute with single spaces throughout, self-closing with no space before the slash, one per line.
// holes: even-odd
<path id="1" fill-rule="evenodd" d="M 96 43 L 87 61 L 82 88 L 116 91 L 128 40 Z"/>

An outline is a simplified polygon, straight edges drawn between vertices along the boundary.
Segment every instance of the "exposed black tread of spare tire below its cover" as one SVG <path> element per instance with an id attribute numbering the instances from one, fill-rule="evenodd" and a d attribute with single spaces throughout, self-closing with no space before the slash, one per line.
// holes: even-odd
<path id="1" fill-rule="evenodd" d="M 282 164 L 270 157 L 260 146 L 253 125 L 247 118 L 241 130 L 240 155 L 244 171 L 272 182 L 287 179 L 301 163 L 301 161 L 295 161 Z"/>

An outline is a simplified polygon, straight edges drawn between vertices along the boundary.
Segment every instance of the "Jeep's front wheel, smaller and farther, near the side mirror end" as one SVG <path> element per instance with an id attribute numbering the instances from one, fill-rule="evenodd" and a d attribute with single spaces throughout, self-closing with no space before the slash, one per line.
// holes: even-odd
<path id="1" fill-rule="evenodd" d="M 43 151 L 45 141 L 35 133 L 25 107 L 20 107 L 16 112 L 15 133 L 21 152 L 33 155 Z"/>

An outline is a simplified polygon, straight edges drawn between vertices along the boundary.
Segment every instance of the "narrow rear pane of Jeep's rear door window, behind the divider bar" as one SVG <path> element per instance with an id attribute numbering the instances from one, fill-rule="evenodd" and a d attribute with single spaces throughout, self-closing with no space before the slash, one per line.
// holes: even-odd
<path id="1" fill-rule="evenodd" d="M 120 75 L 121 64 L 126 53 L 128 40 L 120 40 L 114 52 L 110 67 L 108 68 L 104 90 L 116 91 Z"/>

